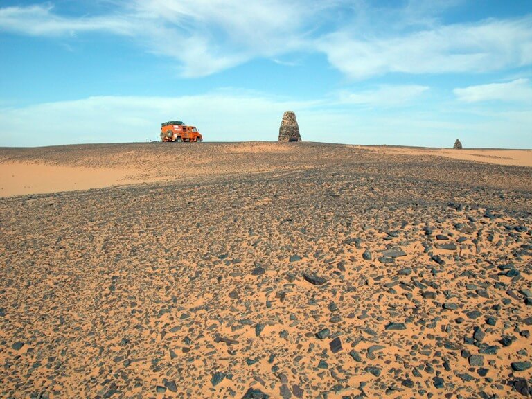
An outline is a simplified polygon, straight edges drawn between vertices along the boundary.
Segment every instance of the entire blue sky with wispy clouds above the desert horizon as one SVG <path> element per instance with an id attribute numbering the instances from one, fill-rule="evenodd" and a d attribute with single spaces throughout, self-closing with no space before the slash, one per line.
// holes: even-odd
<path id="1" fill-rule="evenodd" d="M 530 0 L 0 3 L 0 145 L 205 141 L 532 148 Z"/>

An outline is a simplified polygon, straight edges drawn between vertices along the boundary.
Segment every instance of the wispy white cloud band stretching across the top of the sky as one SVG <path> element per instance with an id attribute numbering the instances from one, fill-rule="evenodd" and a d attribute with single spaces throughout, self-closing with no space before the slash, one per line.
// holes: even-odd
<path id="1" fill-rule="evenodd" d="M 333 67 L 357 80 L 390 72 L 481 73 L 532 64 L 532 15 L 443 24 L 439 14 L 459 0 L 387 7 L 364 0 L 113 3 L 116 8 L 106 15 L 78 17 L 61 15 L 50 3 L 0 8 L 0 31 L 134 37 L 146 51 L 177 60 L 188 77 L 292 52 L 324 53 Z"/>

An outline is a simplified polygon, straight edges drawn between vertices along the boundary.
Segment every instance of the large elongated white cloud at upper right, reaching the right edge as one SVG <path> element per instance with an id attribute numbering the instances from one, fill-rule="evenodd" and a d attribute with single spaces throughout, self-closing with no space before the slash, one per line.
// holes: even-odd
<path id="1" fill-rule="evenodd" d="M 532 16 L 438 26 L 376 37 L 349 29 L 317 41 L 329 62 L 355 79 L 400 73 L 479 73 L 532 64 Z"/>

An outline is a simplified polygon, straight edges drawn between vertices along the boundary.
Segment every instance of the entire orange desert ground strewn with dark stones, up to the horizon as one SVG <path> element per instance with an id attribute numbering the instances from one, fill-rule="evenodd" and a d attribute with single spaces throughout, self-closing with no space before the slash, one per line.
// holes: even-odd
<path id="1" fill-rule="evenodd" d="M 526 397 L 531 156 L 2 148 L 0 397 Z"/>

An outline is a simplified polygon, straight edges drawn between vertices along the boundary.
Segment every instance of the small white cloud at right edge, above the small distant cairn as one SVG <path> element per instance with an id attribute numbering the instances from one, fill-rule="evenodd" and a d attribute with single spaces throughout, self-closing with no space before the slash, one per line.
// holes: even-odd
<path id="1" fill-rule="evenodd" d="M 464 103 L 490 100 L 532 102 L 532 85 L 524 78 L 506 83 L 461 87 L 454 89 L 453 92 Z"/>

